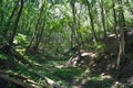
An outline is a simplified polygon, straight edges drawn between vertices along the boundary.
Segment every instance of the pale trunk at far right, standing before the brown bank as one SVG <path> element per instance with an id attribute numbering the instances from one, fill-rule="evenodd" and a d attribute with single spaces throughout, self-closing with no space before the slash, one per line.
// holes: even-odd
<path id="1" fill-rule="evenodd" d="M 122 0 L 117 0 L 119 6 L 122 4 Z M 120 26 L 120 52 L 117 56 L 117 68 L 120 68 L 121 59 L 124 58 L 125 54 L 125 40 L 124 40 L 124 13 L 123 8 L 119 9 L 119 26 Z"/>

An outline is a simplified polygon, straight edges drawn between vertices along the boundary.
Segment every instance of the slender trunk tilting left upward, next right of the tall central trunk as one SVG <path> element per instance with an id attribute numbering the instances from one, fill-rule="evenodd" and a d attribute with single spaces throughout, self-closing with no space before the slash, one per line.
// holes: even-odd
<path id="1" fill-rule="evenodd" d="M 86 0 L 86 6 L 88 6 L 88 10 L 89 10 L 89 18 L 90 18 L 90 23 L 91 23 L 91 30 L 92 30 L 92 34 L 93 34 L 93 40 L 96 43 L 96 34 L 95 34 L 95 31 L 94 31 L 93 15 L 91 13 L 91 6 L 90 6 L 89 0 Z"/>

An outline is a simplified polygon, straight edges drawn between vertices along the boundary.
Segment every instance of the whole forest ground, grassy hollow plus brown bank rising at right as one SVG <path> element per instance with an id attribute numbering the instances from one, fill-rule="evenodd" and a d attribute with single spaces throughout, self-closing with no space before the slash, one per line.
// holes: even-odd
<path id="1" fill-rule="evenodd" d="M 18 59 L 12 53 L 1 51 L 0 74 L 4 72 L 22 82 L 27 82 L 25 79 L 31 79 L 39 85 L 35 88 L 54 88 L 44 77 L 52 79 L 63 88 L 115 88 L 115 85 L 119 88 L 132 88 L 132 85 L 126 86 L 129 78 L 132 77 L 132 69 L 130 69 L 132 66 L 129 65 L 132 63 L 127 61 L 132 58 L 132 53 L 125 55 L 126 62 L 122 61 L 123 68 L 117 70 L 119 50 L 115 41 L 111 37 L 105 42 L 98 42 L 96 45 L 88 45 L 82 50 L 88 55 L 82 57 L 80 62 L 76 59 L 76 51 L 70 51 L 69 54 L 62 56 L 53 56 L 50 53 L 39 52 L 25 54 L 23 47 L 16 47 L 17 54 L 20 53 L 27 62 Z M 111 43 L 112 47 L 110 47 Z M 0 79 L 1 84 L 4 86 L 2 88 L 22 87 L 9 79 Z"/>

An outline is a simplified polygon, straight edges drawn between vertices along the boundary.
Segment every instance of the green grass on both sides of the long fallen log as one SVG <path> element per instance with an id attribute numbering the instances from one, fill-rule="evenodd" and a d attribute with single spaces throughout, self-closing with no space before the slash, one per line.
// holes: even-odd
<path id="1" fill-rule="evenodd" d="M 4 57 L 2 55 L 1 57 Z M 32 63 L 33 70 L 42 74 L 60 84 L 64 88 L 73 88 L 73 85 L 81 85 L 83 88 L 111 88 L 113 85 L 112 78 L 102 77 L 92 72 L 85 73 L 84 67 L 62 67 L 57 68 L 55 66 L 63 65 L 68 61 L 63 58 L 43 58 L 40 56 L 25 56 L 27 59 Z M 33 73 L 27 72 L 31 67 L 21 64 L 12 73 L 18 73 L 22 76 L 30 77 L 38 82 L 45 85 L 45 81 L 34 75 Z"/>

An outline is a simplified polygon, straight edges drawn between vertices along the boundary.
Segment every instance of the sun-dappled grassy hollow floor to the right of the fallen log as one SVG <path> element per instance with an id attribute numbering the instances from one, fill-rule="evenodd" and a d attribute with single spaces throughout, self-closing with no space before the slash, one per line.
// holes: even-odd
<path id="1" fill-rule="evenodd" d="M 66 59 L 32 59 L 34 62 L 34 70 L 53 79 L 63 88 L 111 88 L 114 79 L 104 74 L 93 73 L 89 67 L 66 66 Z"/>

